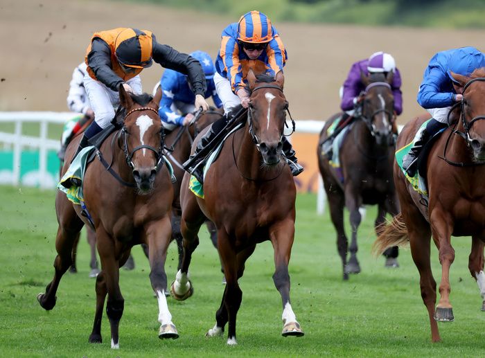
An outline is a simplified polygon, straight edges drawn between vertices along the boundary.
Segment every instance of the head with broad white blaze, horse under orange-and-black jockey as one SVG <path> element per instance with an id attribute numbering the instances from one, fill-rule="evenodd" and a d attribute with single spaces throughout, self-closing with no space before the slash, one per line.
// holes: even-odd
<path id="1" fill-rule="evenodd" d="M 158 115 L 161 96 L 136 96 L 120 86 L 120 102 L 126 109 L 121 136 L 128 166 L 140 193 L 153 188 L 164 146 L 163 126 Z M 161 92 L 160 92 L 161 93 Z"/>

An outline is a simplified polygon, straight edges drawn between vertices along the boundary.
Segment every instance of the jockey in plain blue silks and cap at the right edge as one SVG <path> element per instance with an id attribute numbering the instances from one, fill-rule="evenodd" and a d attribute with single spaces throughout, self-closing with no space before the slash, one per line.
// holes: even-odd
<path id="1" fill-rule="evenodd" d="M 409 177 L 416 174 L 416 159 L 427 141 L 448 126 L 448 112 L 455 102 L 461 101 L 462 87 L 451 76 L 470 75 L 485 66 L 485 55 L 474 47 L 441 51 L 434 55 L 424 71 L 418 91 L 418 103 L 430 112 L 432 118 L 414 137 L 414 145 L 403 158 L 403 168 Z"/>

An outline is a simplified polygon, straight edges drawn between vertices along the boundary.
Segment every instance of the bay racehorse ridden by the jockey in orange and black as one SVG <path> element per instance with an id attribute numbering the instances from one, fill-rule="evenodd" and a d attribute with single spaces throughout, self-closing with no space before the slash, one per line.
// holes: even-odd
<path id="1" fill-rule="evenodd" d="M 149 248 L 150 281 L 159 305 L 159 337 L 178 337 L 164 294 L 173 186 L 166 165 L 161 165 L 164 142 L 158 116 L 160 97 L 131 95 L 123 86 L 119 94 L 126 110 L 123 127 L 107 137 L 100 147 L 99 160 L 89 164 L 83 179 L 85 206 L 96 230 L 102 267 L 96 278 L 96 314 L 89 342 L 102 341 L 101 319 L 108 295 L 106 312 L 111 325 L 112 348 L 119 347 L 118 326 L 124 307 L 118 283 L 119 268 L 130 256 L 132 246 L 140 243 Z M 67 158 L 73 156 L 77 142 L 69 146 Z M 111 159 L 111 165 L 108 166 L 104 158 Z M 64 165 L 63 172 L 69 162 Z M 55 274 L 46 293 L 37 296 L 45 310 L 54 307 L 62 275 L 71 265 L 73 242 L 82 226 L 90 222 L 81 214 L 80 206 L 71 204 L 64 193 L 56 195 L 55 208 L 59 222 Z"/>

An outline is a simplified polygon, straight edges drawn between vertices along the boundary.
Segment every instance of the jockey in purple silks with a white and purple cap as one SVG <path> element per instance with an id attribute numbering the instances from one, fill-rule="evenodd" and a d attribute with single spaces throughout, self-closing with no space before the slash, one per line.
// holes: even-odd
<path id="1" fill-rule="evenodd" d="M 354 115 L 355 108 L 360 104 L 362 100 L 362 93 L 365 90 L 365 86 L 362 83 L 360 74 L 364 74 L 367 77 L 372 73 L 387 73 L 394 72 L 391 89 L 394 96 L 394 111 L 396 115 L 399 115 L 403 111 L 403 93 L 400 91 L 401 79 L 399 70 L 396 68 L 396 61 L 394 57 L 389 55 L 389 53 L 384 53 L 382 51 L 373 53 L 368 59 L 360 60 L 355 62 L 351 66 L 351 70 L 347 75 L 347 78 L 340 89 L 341 91 L 341 102 L 340 108 L 344 111 L 344 115 L 340 119 L 340 123 L 337 129 L 326 138 L 322 146 L 322 151 L 330 155 L 332 150 L 333 139 L 342 132 L 342 129 L 349 123 L 349 117 Z M 355 114 L 356 116 L 358 114 Z"/>

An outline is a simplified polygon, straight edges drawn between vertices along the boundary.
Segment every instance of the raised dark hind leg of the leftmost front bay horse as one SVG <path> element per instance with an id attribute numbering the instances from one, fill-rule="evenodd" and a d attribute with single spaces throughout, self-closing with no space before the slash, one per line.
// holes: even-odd
<path id="1" fill-rule="evenodd" d="M 52 310 L 55 306 L 55 293 L 58 291 L 62 275 L 66 273 L 72 264 L 73 244 L 82 228 L 82 221 L 74 211 L 73 206 L 67 198 L 60 197 L 64 193 L 58 193 L 56 197 L 56 208 L 59 215 L 59 228 L 55 238 L 55 249 L 58 255 L 54 260 L 54 278 L 46 287 L 45 294 L 38 294 L 37 301 L 44 310 Z"/>

